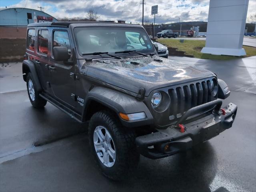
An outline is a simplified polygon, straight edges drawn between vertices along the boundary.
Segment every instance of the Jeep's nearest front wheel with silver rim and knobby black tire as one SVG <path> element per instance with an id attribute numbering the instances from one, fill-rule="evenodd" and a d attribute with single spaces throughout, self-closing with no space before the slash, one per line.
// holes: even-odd
<path id="1" fill-rule="evenodd" d="M 94 160 L 106 177 L 122 180 L 130 168 L 137 166 L 135 134 L 122 127 L 112 112 L 96 112 L 90 120 L 88 135 Z"/>

